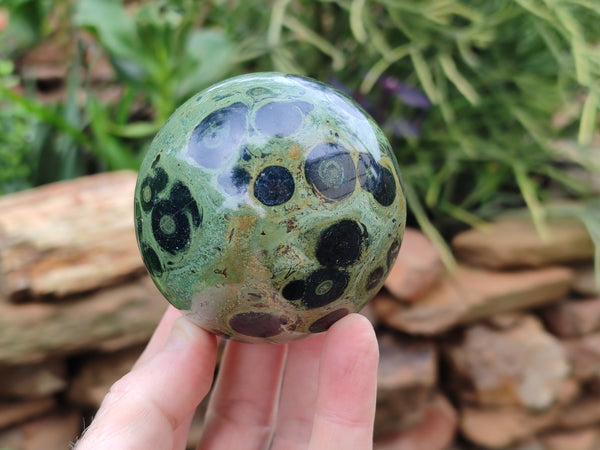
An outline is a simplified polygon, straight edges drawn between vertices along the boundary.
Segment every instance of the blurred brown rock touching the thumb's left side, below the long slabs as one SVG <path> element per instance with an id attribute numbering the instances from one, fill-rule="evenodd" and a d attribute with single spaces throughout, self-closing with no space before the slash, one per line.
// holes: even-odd
<path id="1" fill-rule="evenodd" d="M 113 383 L 131 370 L 142 351 L 143 347 L 137 346 L 78 361 L 69 386 L 69 400 L 84 408 L 98 409 Z"/>

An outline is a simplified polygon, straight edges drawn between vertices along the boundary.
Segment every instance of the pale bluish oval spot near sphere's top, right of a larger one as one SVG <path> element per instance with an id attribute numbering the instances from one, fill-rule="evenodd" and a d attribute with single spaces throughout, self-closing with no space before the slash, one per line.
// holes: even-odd
<path id="1" fill-rule="evenodd" d="M 302 125 L 303 111 L 298 103 L 306 102 L 271 102 L 261 106 L 254 119 L 256 128 L 266 136 L 289 136 Z"/>

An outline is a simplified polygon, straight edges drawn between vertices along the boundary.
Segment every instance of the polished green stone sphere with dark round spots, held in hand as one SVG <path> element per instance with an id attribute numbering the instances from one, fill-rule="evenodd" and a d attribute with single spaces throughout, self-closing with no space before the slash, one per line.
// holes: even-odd
<path id="1" fill-rule="evenodd" d="M 283 343 L 361 309 L 396 260 L 400 173 L 345 94 L 255 73 L 183 104 L 135 191 L 138 244 L 167 300 L 201 327 Z"/>

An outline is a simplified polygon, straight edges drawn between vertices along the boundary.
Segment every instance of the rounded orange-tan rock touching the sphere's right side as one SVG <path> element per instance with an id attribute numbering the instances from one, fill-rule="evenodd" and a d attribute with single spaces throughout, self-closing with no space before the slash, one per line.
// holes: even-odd
<path id="1" fill-rule="evenodd" d="M 422 232 L 407 228 L 385 287 L 398 300 L 414 302 L 435 284 L 443 272 L 437 248 Z"/>

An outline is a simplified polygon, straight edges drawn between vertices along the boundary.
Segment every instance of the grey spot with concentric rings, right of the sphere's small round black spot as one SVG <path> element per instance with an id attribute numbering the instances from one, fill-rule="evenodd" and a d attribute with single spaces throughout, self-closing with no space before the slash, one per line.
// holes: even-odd
<path id="1" fill-rule="evenodd" d="M 306 157 L 304 173 L 313 190 L 328 200 L 343 200 L 354 192 L 356 168 L 350 153 L 338 144 L 319 144 Z"/>

